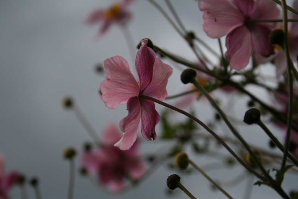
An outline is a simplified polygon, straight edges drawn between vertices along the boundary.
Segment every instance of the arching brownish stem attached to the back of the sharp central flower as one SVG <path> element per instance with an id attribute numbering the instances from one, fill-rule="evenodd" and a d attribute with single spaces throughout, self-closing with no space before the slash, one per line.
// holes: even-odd
<path id="1" fill-rule="evenodd" d="M 199 120 L 198 118 L 196 118 L 195 116 L 193 116 L 192 114 L 187 113 L 186 111 L 183 111 L 175 106 L 172 106 L 170 104 L 167 104 L 165 102 L 162 102 L 158 99 L 155 99 L 153 97 L 149 97 L 149 96 L 145 96 L 145 95 L 140 95 L 139 98 L 143 98 L 143 99 L 148 99 L 150 101 L 156 102 L 160 105 L 163 105 L 167 108 L 170 108 L 174 111 L 177 111 L 187 117 L 189 117 L 190 119 L 194 120 L 195 122 L 197 122 L 199 125 L 201 125 L 204 129 L 206 129 L 212 136 L 215 137 L 215 139 L 217 139 L 231 154 L 232 156 L 234 156 L 234 158 L 244 167 L 246 168 L 246 170 L 248 170 L 249 172 L 251 172 L 252 174 L 254 174 L 257 178 L 260 178 L 263 181 L 266 181 L 267 179 L 264 178 L 262 175 L 260 175 L 258 172 L 256 172 L 254 169 L 252 169 L 252 167 L 250 167 L 248 164 L 246 164 L 227 144 L 226 142 L 224 142 L 223 139 L 221 139 L 220 136 L 218 136 L 213 130 L 211 130 L 207 125 L 205 125 L 201 120 Z"/>

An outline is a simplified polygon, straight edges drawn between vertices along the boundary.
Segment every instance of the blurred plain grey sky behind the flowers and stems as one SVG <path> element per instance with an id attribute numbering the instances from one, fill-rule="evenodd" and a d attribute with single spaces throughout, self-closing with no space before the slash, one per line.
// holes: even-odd
<path id="1" fill-rule="evenodd" d="M 218 51 L 217 40 L 207 38 L 202 30 L 203 20 L 198 1 L 171 2 L 185 27 L 196 32 Z M 164 1 L 159 3 L 169 11 Z M 75 100 L 99 135 L 106 124 L 118 124 L 127 114 L 125 105 L 120 105 L 116 110 L 105 107 L 98 93 L 105 74 L 95 72 L 97 64 L 115 55 L 128 60 L 131 70 L 134 70 L 123 32 L 117 25 L 113 25 L 105 35 L 96 39 L 100 26 L 84 23 L 92 10 L 98 7 L 108 8 L 111 4 L 112 1 L 108 0 L 0 1 L 0 153 L 5 158 L 6 172 L 18 170 L 27 178 L 39 178 L 44 199 L 66 198 L 69 164 L 62 158 L 63 150 L 72 146 L 79 151 L 84 142 L 90 141 L 72 111 L 62 107 L 63 98 L 71 96 Z M 195 55 L 187 43 L 152 4 L 148 1 L 136 1 L 128 10 L 132 13 L 131 21 L 127 24 L 134 40 L 132 45 L 135 46 L 141 39 L 148 37 L 155 45 L 195 61 Z M 179 80 L 181 70 L 172 62 L 164 61 L 174 68 L 167 86 L 168 94 L 178 94 L 188 88 Z M 272 76 L 274 74 L 272 66 L 264 71 L 271 71 Z M 255 92 L 265 96 L 262 91 Z M 242 98 L 235 98 L 232 94 L 222 96 L 224 110 L 229 110 L 228 102 L 232 100 L 238 107 L 237 113 L 234 110 L 234 116 L 240 120 L 246 111 L 243 104 L 247 101 L 247 98 Z M 269 97 L 265 100 L 270 101 Z M 175 101 L 169 101 L 171 102 Z M 157 109 L 162 108 L 157 105 Z M 196 110 L 197 116 L 201 116 L 203 120 L 214 115 L 206 101 L 201 102 Z M 184 119 L 184 116 L 178 117 Z M 227 130 L 224 125 L 223 129 Z M 257 137 L 258 142 L 255 144 L 266 146 L 268 139 L 259 135 L 263 132 L 257 127 L 247 130 L 246 126 L 240 126 L 240 129 L 247 139 L 255 141 Z M 283 139 L 283 133 L 277 132 L 277 136 Z M 171 144 L 159 140 L 141 140 L 142 154 L 155 153 L 159 148 Z M 206 156 L 194 157 L 199 165 L 216 161 Z M 78 166 L 78 162 L 76 164 Z M 240 167 L 222 169 L 210 172 L 210 175 L 213 178 L 226 176 L 226 181 L 229 181 L 241 173 L 241 170 Z M 134 189 L 118 195 L 111 195 L 77 172 L 74 198 L 186 198 L 179 190 L 174 195 L 167 194 L 165 182 L 173 172 L 166 166 L 157 167 L 152 175 Z M 182 183 L 197 198 L 224 198 L 221 192 L 212 190 L 200 174 L 191 177 L 180 175 Z M 296 182 L 294 177 L 287 177 L 289 183 Z M 251 182 L 255 181 L 253 179 Z M 227 191 L 234 198 L 243 198 L 245 186 L 246 181 L 242 181 Z M 288 188 L 286 191 L 289 190 Z M 255 186 L 252 198 L 261 193 L 263 198 L 279 198 L 266 186 Z M 35 198 L 30 186 L 27 186 L 27 194 L 28 198 Z M 18 187 L 13 188 L 10 195 L 13 199 L 21 198 Z"/>

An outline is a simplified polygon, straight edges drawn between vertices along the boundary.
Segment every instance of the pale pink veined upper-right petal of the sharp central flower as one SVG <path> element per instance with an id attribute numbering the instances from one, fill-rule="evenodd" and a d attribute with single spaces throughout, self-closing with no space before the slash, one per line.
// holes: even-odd
<path id="1" fill-rule="evenodd" d="M 156 58 L 153 65 L 152 81 L 142 94 L 164 100 L 167 97 L 167 81 L 172 73 L 173 69 L 169 65 Z"/>

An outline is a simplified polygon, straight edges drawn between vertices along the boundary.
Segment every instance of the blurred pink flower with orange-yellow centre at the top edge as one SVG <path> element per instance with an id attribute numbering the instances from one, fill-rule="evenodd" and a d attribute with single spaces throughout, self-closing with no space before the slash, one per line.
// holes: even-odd
<path id="1" fill-rule="evenodd" d="M 103 22 L 99 36 L 103 35 L 112 24 L 124 25 L 130 19 L 130 13 L 126 11 L 126 8 L 135 0 L 122 0 L 119 3 L 113 4 L 109 9 L 97 9 L 90 13 L 86 23 L 98 24 Z"/>

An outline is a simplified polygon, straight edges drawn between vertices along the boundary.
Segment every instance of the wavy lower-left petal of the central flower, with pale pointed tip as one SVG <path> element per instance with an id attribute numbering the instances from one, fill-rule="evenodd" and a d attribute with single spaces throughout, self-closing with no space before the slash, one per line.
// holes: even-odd
<path id="1" fill-rule="evenodd" d="M 114 144 L 121 150 L 128 150 L 136 141 L 141 120 L 141 103 L 139 97 L 131 97 L 127 102 L 128 116 L 120 121 L 122 138 Z"/>

